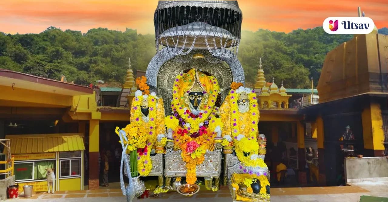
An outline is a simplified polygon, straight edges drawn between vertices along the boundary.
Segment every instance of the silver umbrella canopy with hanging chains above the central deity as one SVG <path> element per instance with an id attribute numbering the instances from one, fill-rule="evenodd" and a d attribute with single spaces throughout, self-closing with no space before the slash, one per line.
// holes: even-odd
<path id="1" fill-rule="evenodd" d="M 159 1 L 154 14 L 156 49 L 168 55 L 193 49 L 237 55 L 241 22 L 237 1 Z"/>

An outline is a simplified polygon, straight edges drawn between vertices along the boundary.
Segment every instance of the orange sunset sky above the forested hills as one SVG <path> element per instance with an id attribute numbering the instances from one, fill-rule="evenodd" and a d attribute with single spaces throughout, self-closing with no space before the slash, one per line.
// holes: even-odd
<path id="1" fill-rule="evenodd" d="M 239 0 L 242 29 L 289 32 L 322 26 L 327 17 L 357 17 L 357 7 L 378 28 L 388 27 L 388 0 Z M 154 34 L 157 0 L 0 0 L 0 31 L 40 33 L 49 26 Z"/>

